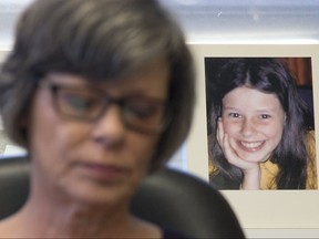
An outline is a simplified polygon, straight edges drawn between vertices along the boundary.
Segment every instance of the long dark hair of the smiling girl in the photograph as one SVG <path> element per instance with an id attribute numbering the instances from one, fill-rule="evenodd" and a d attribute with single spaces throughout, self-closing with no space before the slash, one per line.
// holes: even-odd
<path id="1" fill-rule="evenodd" d="M 207 65 L 206 65 L 207 66 Z M 282 137 L 270 160 L 278 165 L 278 189 L 305 189 L 307 178 L 307 148 L 305 117 L 307 107 L 295 85 L 295 79 L 286 65 L 272 58 L 228 59 L 216 77 L 206 74 L 209 118 L 209 158 L 226 177 L 240 184 L 243 172 L 225 158 L 216 138 L 217 119 L 222 113 L 222 100 L 231 90 L 249 85 L 260 92 L 276 94 L 285 113 Z"/>

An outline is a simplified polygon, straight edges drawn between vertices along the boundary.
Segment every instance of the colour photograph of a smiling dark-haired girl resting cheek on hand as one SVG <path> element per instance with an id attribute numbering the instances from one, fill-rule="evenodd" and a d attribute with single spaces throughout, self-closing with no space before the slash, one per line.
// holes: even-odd
<path id="1" fill-rule="evenodd" d="M 218 189 L 317 189 L 313 106 L 300 93 L 312 95 L 311 59 L 206 58 L 205 74 L 209 181 Z"/>

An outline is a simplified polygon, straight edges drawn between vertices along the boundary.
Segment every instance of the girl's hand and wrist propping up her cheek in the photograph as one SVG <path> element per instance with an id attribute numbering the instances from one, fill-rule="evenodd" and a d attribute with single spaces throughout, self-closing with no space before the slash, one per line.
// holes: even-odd
<path id="1" fill-rule="evenodd" d="M 217 141 L 223 149 L 223 153 L 229 164 L 241 168 L 244 173 L 243 189 L 259 189 L 260 185 L 260 168 L 259 163 L 247 162 L 240 158 L 234 147 L 229 143 L 228 134 L 224 132 L 223 121 L 218 118 Z"/>

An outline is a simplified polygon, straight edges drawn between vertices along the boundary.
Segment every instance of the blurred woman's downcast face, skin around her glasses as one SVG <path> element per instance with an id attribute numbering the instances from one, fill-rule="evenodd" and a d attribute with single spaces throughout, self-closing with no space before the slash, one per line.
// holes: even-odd
<path id="1" fill-rule="evenodd" d="M 60 101 L 64 105 L 60 110 L 69 114 L 90 115 L 91 110 L 86 108 L 92 107 L 94 112 L 91 104 L 96 105 L 90 86 L 97 86 L 100 92 L 105 92 L 102 102 L 107 96 L 134 97 L 134 101 L 126 100 L 130 105 L 126 121 L 135 125 L 142 121 L 148 124 L 147 118 L 158 113 L 151 102 L 167 100 L 168 79 L 164 58 L 121 81 L 109 83 L 93 84 L 72 74 L 49 74 L 44 82 L 66 90 L 54 97 L 52 89 L 39 87 L 33 100 L 29 122 L 33 188 L 44 190 L 48 197 L 58 200 L 72 198 L 71 201 L 93 205 L 127 202 L 148 169 L 161 135 L 142 133 L 125 125 L 122 103 L 110 104 L 91 122 L 63 116 L 54 104 Z M 81 93 L 76 89 L 82 89 Z M 144 126 L 140 124 L 140 127 Z"/>

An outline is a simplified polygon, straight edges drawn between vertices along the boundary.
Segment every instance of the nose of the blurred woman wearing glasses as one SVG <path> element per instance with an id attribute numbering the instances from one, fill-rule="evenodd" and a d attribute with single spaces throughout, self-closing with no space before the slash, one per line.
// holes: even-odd
<path id="1" fill-rule="evenodd" d="M 94 138 L 107 145 L 119 144 L 126 131 L 117 105 L 110 105 L 94 124 Z"/>

